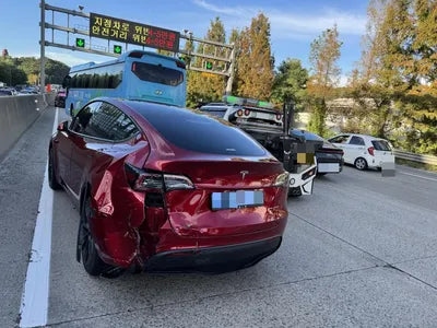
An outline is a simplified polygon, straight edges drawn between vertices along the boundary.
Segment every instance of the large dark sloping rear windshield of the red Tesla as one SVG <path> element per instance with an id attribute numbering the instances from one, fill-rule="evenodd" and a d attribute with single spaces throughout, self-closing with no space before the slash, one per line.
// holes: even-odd
<path id="1" fill-rule="evenodd" d="M 167 141 L 178 148 L 211 154 L 263 156 L 265 150 L 232 125 L 202 112 L 129 102 Z"/>

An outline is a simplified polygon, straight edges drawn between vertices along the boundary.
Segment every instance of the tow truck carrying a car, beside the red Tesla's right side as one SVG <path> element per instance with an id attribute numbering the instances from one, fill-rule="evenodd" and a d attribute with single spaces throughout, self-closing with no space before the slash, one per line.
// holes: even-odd
<path id="1" fill-rule="evenodd" d="M 237 126 L 281 161 L 290 173 L 290 196 L 312 194 L 317 172 L 315 150 L 321 144 L 288 133 L 294 116 L 292 103 L 286 102 L 281 112 L 268 102 L 225 95 L 222 103 L 210 103 L 199 109 Z"/>

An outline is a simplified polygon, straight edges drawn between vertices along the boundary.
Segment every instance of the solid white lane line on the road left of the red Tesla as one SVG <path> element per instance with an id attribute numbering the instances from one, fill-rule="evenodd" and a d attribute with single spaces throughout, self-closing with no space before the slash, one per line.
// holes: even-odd
<path id="1" fill-rule="evenodd" d="M 55 109 L 54 133 L 58 126 L 58 109 Z M 42 196 L 36 216 L 31 259 L 20 308 L 20 327 L 38 327 L 47 324 L 48 291 L 51 251 L 51 222 L 54 191 L 48 186 L 48 163 L 44 172 Z"/>

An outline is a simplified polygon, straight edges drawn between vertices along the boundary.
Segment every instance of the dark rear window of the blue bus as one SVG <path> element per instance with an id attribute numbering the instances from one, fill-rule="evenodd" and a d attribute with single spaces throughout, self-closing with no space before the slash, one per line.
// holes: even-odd
<path id="1" fill-rule="evenodd" d="M 135 61 L 132 63 L 132 72 L 142 81 L 173 86 L 184 82 L 184 73 L 181 71 L 161 65 Z"/>

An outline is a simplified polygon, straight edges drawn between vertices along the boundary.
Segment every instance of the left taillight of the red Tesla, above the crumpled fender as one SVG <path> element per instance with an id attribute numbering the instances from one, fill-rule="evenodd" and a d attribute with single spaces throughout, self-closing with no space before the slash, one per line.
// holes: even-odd
<path id="1" fill-rule="evenodd" d="M 125 171 L 130 187 L 138 191 L 165 192 L 194 189 L 192 181 L 182 175 L 146 172 L 130 164 L 125 164 Z"/>

